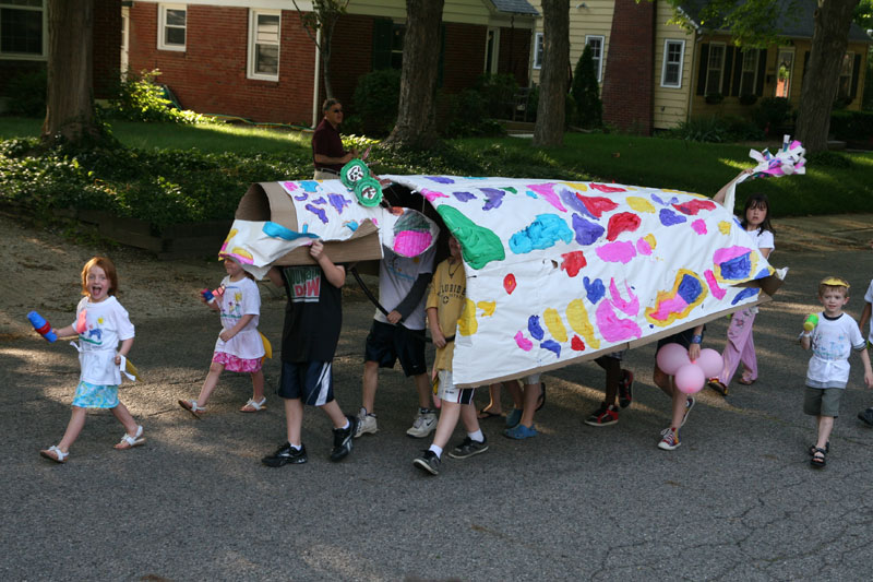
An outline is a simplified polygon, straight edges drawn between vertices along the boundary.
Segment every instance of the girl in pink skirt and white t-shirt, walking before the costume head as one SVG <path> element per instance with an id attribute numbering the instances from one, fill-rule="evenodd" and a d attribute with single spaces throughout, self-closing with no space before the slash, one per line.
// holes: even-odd
<path id="1" fill-rule="evenodd" d="M 258 332 L 258 320 L 261 313 L 261 292 L 251 274 L 231 258 L 225 258 L 227 276 L 215 293 L 214 300 L 202 298 L 210 309 L 218 311 L 222 317 L 222 333 L 215 342 L 210 373 L 203 382 L 198 400 L 180 400 L 179 405 L 200 417 L 206 409 L 218 378 L 225 369 L 232 372 L 248 372 L 252 376 L 252 397 L 240 412 L 256 413 L 266 406 L 264 396 L 264 372 L 261 370 L 264 357 L 264 343 Z"/>

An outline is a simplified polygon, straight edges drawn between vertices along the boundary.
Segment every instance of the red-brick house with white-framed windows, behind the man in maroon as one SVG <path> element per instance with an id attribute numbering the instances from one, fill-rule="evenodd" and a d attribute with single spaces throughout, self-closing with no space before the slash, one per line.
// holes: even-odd
<path id="1" fill-rule="evenodd" d="M 2 1 L 2 0 L 0 0 Z M 181 105 L 202 114 L 259 122 L 312 124 L 321 118 L 320 59 L 289 0 L 124 2 L 125 60 L 131 71 L 159 69 Z M 310 1 L 298 0 L 301 10 Z M 537 11 L 525 0 L 446 0 L 442 90 L 471 86 L 485 71 L 529 82 Z M 358 78 L 399 68 L 404 0 L 352 0 L 334 32 L 334 94 L 354 112 Z"/>

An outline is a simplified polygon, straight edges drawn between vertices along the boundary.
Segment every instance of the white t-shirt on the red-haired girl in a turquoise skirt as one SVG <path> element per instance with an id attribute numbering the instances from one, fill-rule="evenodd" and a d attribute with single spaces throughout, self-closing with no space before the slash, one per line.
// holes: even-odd
<path id="1" fill-rule="evenodd" d="M 97 385 L 118 385 L 121 370 L 116 365 L 116 351 L 119 342 L 133 337 L 133 323 L 128 311 L 115 296 L 93 304 L 83 297 L 75 308 L 73 329 L 85 313 L 84 329 L 79 332 L 79 364 L 82 366 L 80 380 Z"/>

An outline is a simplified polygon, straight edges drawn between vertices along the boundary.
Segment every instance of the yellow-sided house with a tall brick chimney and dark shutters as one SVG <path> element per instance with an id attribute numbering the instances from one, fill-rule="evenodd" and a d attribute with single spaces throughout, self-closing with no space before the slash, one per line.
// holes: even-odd
<path id="1" fill-rule="evenodd" d="M 666 1 L 571 0 L 570 62 L 575 67 L 585 46 L 591 46 L 603 121 L 625 131 L 650 134 L 711 115 L 748 117 L 754 102 L 764 97 L 786 97 L 797 108 L 815 3 L 801 0 L 794 9 L 797 19 L 779 20 L 785 44 L 742 49 L 733 46 L 729 31 L 701 26 L 703 0 L 682 3 L 687 27 L 671 23 L 673 10 Z M 540 7 L 539 0 L 531 4 Z M 531 80 L 536 83 L 541 21 L 534 35 Z M 839 86 L 847 109 L 861 107 L 871 43 L 864 31 L 851 25 Z"/>

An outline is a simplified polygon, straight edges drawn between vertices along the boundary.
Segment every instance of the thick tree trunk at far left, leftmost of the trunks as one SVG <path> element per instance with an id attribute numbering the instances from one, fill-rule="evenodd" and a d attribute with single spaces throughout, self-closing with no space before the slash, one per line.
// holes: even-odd
<path id="1" fill-rule="evenodd" d="M 46 145 L 100 135 L 92 96 L 93 27 L 93 0 L 49 0 Z"/>

